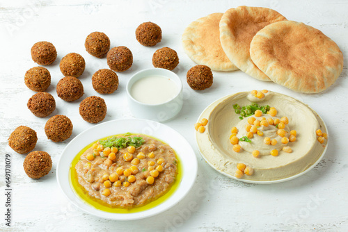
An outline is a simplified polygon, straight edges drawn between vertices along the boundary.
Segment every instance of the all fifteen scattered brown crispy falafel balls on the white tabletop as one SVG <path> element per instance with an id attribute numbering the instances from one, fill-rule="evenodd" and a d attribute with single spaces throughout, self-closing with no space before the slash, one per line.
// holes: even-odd
<path id="1" fill-rule="evenodd" d="M 161 42 L 161 28 L 152 22 L 144 22 L 136 28 L 136 40 L 145 47 L 153 47 Z M 118 88 L 118 75 L 133 64 L 133 55 L 127 47 L 110 49 L 110 39 L 102 32 L 90 33 L 85 40 L 86 51 L 97 58 L 106 56 L 110 69 L 100 69 L 92 76 L 92 85 L 100 94 L 112 94 Z M 31 58 L 38 65 L 51 65 L 56 60 L 56 47 L 51 42 L 36 42 L 31 48 Z M 158 68 L 173 70 L 179 64 L 176 51 L 169 47 L 157 49 L 152 56 L 152 65 Z M 84 86 L 78 77 L 84 73 L 86 63 L 78 53 L 68 53 L 59 64 L 64 75 L 56 85 L 58 97 L 64 101 L 76 101 L 84 94 Z M 204 84 L 200 84 L 200 75 L 204 75 Z M 212 85 L 212 72 L 209 67 L 196 65 L 187 72 L 187 83 L 193 90 L 204 90 Z M 208 79 L 209 81 L 206 81 Z M 36 117 L 47 117 L 56 109 L 56 101 L 52 94 L 45 92 L 51 84 L 51 75 L 45 67 L 33 67 L 24 76 L 26 86 L 35 92 L 29 99 L 27 107 Z M 79 104 L 79 114 L 90 123 L 101 122 L 106 116 L 106 103 L 97 96 L 86 97 Z M 72 122 L 65 115 L 54 115 L 45 124 L 45 134 L 53 142 L 63 142 L 72 135 Z M 18 126 L 8 138 L 9 146 L 19 154 L 26 154 L 35 148 L 38 137 L 28 126 Z M 51 156 L 45 151 L 32 151 L 24 160 L 24 171 L 33 178 L 39 179 L 49 173 L 52 168 Z"/>

